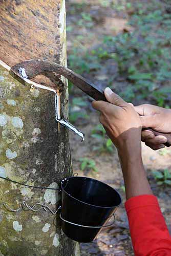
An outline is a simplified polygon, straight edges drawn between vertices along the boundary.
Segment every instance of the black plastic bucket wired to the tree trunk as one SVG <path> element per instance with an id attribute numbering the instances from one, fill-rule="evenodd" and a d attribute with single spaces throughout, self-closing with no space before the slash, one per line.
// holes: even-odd
<path id="1" fill-rule="evenodd" d="M 93 241 L 121 204 L 114 188 L 92 178 L 66 178 L 61 181 L 61 190 L 62 230 L 82 243 Z"/>

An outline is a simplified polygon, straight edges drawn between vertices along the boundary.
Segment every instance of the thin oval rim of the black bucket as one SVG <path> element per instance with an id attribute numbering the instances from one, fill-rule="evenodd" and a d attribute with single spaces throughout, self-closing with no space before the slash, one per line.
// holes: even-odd
<path id="1" fill-rule="evenodd" d="M 102 184 L 104 184 L 104 185 L 106 185 L 106 186 L 112 188 L 112 189 L 115 190 L 115 191 L 117 192 L 117 194 L 119 195 L 119 197 L 120 197 L 120 203 L 119 203 L 118 205 L 115 205 L 115 206 L 99 206 L 99 205 L 94 205 L 94 204 L 89 204 L 89 203 L 83 202 L 83 201 L 81 201 L 81 200 L 79 200 L 79 199 L 77 199 L 77 198 L 71 196 L 71 195 L 65 190 L 65 187 L 63 188 L 63 186 L 62 186 L 62 181 L 65 181 L 66 179 L 71 179 L 71 178 L 84 178 L 84 179 L 86 178 L 86 179 L 90 179 L 90 180 L 95 180 L 95 181 L 98 181 L 98 182 L 100 182 L 100 183 L 102 183 Z M 70 177 L 67 177 L 67 178 L 62 179 L 60 183 L 61 183 L 61 188 L 62 188 L 62 190 L 65 191 L 65 193 L 66 193 L 69 197 L 75 199 L 76 201 L 78 201 L 78 202 L 80 202 L 80 203 L 84 203 L 84 204 L 87 204 L 87 205 L 90 205 L 90 206 L 94 206 L 94 207 L 97 207 L 97 208 L 106 208 L 106 209 L 119 207 L 119 205 L 121 205 L 121 203 L 122 203 L 122 198 L 121 198 L 119 192 L 118 192 L 115 188 L 111 187 L 110 185 L 108 185 L 108 184 L 106 184 L 106 183 L 104 183 L 104 182 L 102 182 L 102 181 L 99 181 L 99 180 L 96 180 L 96 179 L 93 179 L 93 178 L 90 178 L 90 177 L 70 176 Z"/>

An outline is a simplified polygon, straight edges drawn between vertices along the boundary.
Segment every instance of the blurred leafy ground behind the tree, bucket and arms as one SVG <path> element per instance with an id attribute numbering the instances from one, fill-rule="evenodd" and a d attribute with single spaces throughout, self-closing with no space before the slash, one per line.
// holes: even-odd
<path id="1" fill-rule="evenodd" d="M 68 0 L 68 66 L 100 88 L 110 87 L 135 105 L 170 108 L 171 6 L 164 0 Z M 124 183 L 111 140 L 98 122 L 92 99 L 69 83 L 70 121 L 86 134 L 84 144 L 71 136 L 73 166 L 79 175 L 100 179 L 117 188 Z M 171 151 L 152 152 L 143 146 L 143 160 L 168 227 Z M 102 232 L 81 255 L 134 255 L 124 207 L 114 229 Z M 115 229 L 117 230 L 115 232 Z"/>

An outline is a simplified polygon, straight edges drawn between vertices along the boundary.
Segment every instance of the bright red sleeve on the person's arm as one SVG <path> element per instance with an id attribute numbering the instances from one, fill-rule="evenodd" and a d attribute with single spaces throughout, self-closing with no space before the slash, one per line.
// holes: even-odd
<path id="1" fill-rule="evenodd" d="M 135 256 L 170 256 L 171 237 L 153 195 L 132 197 L 125 203 Z"/>

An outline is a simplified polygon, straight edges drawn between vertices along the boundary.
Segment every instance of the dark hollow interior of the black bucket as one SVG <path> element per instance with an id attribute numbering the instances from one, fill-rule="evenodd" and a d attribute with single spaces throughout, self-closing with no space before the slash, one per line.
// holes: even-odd
<path id="1" fill-rule="evenodd" d="M 121 197 L 111 186 L 87 177 L 70 177 L 61 183 L 69 196 L 99 207 L 116 207 Z"/>

